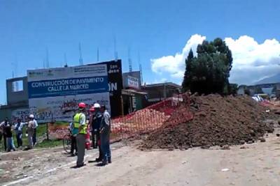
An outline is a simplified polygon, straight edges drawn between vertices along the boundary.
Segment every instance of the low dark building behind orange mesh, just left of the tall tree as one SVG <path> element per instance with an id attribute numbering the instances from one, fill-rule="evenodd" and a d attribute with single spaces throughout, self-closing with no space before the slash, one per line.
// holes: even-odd
<path id="1" fill-rule="evenodd" d="M 147 84 L 142 86 L 142 90 L 148 93 L 147 100 L 149 104 L 160 102 L 166 98 L 176 96 L 181 93 L 182 87 L 172 82 L 160 84 Z"/>

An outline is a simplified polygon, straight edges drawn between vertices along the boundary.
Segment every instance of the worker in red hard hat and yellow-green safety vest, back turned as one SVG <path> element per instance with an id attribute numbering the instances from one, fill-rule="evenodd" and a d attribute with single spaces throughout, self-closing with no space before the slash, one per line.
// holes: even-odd
<path id="1" fill-rule="evenodd" d="M 87 134 L 87 125 L 85 124 L 85 103 L 80 102 L 78 104 L 78 112 L 73 118 L 74 128 L 78 130 L 76 136 L 77 148 L 78 148 L 78 158 L 76 167 L 84 166 L 83 162 L 85 156 L 85 134 Z"/>

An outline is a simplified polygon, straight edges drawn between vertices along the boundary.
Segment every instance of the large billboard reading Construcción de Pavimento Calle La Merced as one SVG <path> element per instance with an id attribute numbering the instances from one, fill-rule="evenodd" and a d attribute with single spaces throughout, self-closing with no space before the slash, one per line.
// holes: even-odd
<path id="1" fill-rule="evenodd" d="M 104 64 L 28 70 L 29 109 L 39 122 L 71 121 L 78 102 L 95 102 L 110 111 L 108 71 Z"/>

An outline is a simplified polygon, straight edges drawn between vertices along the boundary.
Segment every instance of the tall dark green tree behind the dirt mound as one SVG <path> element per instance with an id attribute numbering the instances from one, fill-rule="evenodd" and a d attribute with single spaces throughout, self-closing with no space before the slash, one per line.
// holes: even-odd
<path id="1" fill-rule="evenodd" d="M 197 46 L 197 56 L 189 52 L 186 59 L 186 72 L 183 90 L 197 93 L 232 93 L 228 78 L 232 69 L 232 52 L 221 38 L 208 42 L 204 40 Z"/>

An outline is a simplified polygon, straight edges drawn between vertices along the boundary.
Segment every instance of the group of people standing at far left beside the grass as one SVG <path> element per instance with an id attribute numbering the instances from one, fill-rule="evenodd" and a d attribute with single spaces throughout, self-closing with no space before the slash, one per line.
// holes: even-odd
<path id="1" fill-rule="evenodd" d="M 23 137 L 23 128 L 27 125 L 26 134 L 28 137 L 28 146 L 24 150 L 29 150 L 37 143 L 37 127 L 38 123 L 34 118 L 33 114 L 29 115 L 29 121 L 27 123 L 22 122 L 20 118 L 17 119 L 15 123 L 10 123 L 8 118 L 5 118 L 5 121 L 0 123 L 0 144 L 3 138 L 4 150 L 10 152 L 11 150 L 16 150 L 15 144 L 13 143 L 13 133 L 17 139 L 17 148 L 22 148 L 22 137 Z"/>

